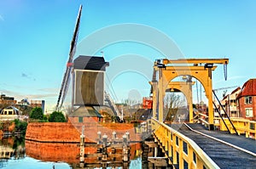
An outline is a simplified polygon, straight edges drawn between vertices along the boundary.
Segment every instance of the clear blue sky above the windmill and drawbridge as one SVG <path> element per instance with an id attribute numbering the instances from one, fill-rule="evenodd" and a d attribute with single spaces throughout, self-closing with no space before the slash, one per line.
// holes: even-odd
<path id="1" fill-rule="evenodd" d="M 213 88 L 242 86 L 255 77 L 256 2 L 253 0 L 1 0 L 0 93 L 18 100 L 45 99 L 48 110 L 52 109 L 66 69 L 79 4 L 84 7 L 79 42 L 111 25 L 146 25 L 170 37 L 185 58 L 229 58 L 228 81 L 224 82 L 223 66 L 219 65 L 213 72 Z M 112 35 L 103 36 L 102 41 L 108 36 Z M 91 43 L 101 41 L 96 40 Z M 78 51 L 83 50 L 78 48 Z M 112 43 L 98 48 L 95 54 L 100 55 L 100 51 L 110 66 L 119 58 L 133 55 L 147 63 L 166 57 L 135 41 Z M 133 64 L 136 59 L 130 61 L 131 70 L 106 82 L 107 88 L 112 84 L 117 100 L 132 95 L 148 96 L 148 76 L 137 72 L 135 67 L 139 65 Z M 143 68 L 152 72 L 152 67 Z"/>

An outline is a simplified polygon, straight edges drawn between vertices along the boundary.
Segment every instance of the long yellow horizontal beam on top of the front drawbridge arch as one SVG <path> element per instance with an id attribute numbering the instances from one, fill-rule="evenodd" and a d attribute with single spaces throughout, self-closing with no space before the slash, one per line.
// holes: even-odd
<path id="1" fill-rule="evenodd" d="M 229 64 L 229 59 L 163 59 L 163 64 Z"/>

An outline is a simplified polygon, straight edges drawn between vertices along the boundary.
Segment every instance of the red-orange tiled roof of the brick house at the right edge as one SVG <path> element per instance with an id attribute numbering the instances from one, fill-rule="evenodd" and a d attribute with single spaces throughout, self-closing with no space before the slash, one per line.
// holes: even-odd
<path id="1" fill-rule="evenodd" d="M 241 93 L 237 95 L 237 99 L 245 96 L 256 96 L 256 79 L 250 79 L 241 87 Z"/>

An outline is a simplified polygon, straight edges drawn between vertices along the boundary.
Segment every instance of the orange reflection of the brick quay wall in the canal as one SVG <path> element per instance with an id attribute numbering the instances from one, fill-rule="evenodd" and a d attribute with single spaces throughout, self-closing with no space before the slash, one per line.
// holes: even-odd
<path id="1" fill-rule="evenodd" d="M 111 151 L 111 149 L 108 149 Z M 26 140 L 26 155 L 40 161 L 63 161 L 67 162 L 72 168 L 79 168 L 79 144 L 61 143 L 39 143 Z M 130 161 L 125 163 L 122 160 L 122 151 L 108 153 L 108 161 L 101 161 L 101 153 L 97 152 L 97 144 L 86 144 L 84 148 L 84 167 L 122 167 L 128 168 Z M 141 155 L 141 144 L 131 144 L 130 160 L 135 160 Z"/>

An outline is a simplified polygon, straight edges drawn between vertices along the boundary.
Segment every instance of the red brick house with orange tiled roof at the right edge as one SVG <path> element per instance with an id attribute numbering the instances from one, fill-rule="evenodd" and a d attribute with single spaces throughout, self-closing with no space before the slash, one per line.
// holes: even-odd
<path id="1" fill-rule="evenodd" d="M 250 79 L 241 87 L 237 95 L 240 116 L 256 121 L 256 79 Z"/>

